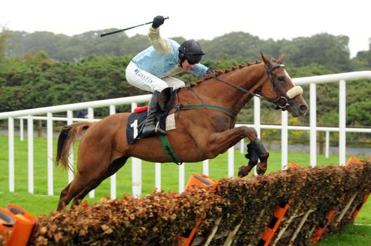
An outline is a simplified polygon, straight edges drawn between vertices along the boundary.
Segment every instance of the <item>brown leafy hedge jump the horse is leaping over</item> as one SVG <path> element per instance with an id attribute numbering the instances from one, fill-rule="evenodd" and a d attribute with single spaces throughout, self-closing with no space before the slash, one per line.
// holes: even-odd
<path id="1" fill-rule="evenodd" d="M 289 204 L 273 241 L 309 245 L 315 228 L 327 214 L 337 212 L 323 236 L 351 223 L 352 213 L 371 191 L 371 159 L 348 167 L 292 168 L 249 179 L 221 179 L 216 191 L 194 187 L 184 193 L 153 192 L 143 198 L 125 195 L 121 200 L 103 198 L 94 205 L 39 216 L 30 245 L 178 245 L 181 238 L 202 220 L 193 245 L 258 245 L 275 209 Z M 354 197 L 354 198 L 353 198 Z M 353 198 L 341 221 L 337 218 Z M 345 211 L 345 210 L 344 210 Z M 216 226 L 216 221 L 221 221 Z M 238 228 L 235 233 L 233 230 Z M 278 238 L 280 230 L 282 235 Z"/>

